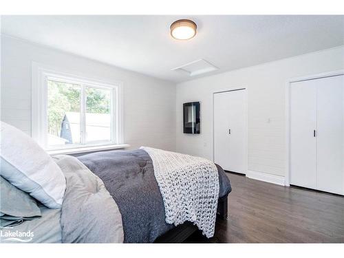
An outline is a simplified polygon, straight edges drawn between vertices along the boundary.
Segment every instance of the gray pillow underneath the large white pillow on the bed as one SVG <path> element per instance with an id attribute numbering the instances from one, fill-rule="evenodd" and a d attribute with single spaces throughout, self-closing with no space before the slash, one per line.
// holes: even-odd
<path id="1" fill-rule="evenodd" d="M 30 218 L 41 216 L 41 210 L 28 193 L 25 193 L 16 186 L 10 184 L 0 176 L 0 215 L 2 218 L 12 216 Z M 0 218 L 1 218 L 0 217 Z"/>

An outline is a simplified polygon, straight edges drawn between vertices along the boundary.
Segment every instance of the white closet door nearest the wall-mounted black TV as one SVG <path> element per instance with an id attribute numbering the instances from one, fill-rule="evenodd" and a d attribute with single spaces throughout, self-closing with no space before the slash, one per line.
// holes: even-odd
<path id="1" fill-rule="evenodd" d="M 214 94 L 214 161 L 227 171 L 246 173 L 244 90 Z"/>

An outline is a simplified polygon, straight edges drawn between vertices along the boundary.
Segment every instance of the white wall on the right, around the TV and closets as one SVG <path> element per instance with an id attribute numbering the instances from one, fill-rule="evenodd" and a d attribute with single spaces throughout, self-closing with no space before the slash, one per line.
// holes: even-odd
<path id="1" fill-rule="evenodd" d="M 213 92 L 248 89 L 248 170 L 284 176 L 286 82 L 344 68 L 344 47 L 283 59 L 177 85 L 177 151 L 213 159 Z M 201 102 L 201 134 L 182 131 L 182 103 Z M 268 120 L 270 119 L 270 122 Z"/>

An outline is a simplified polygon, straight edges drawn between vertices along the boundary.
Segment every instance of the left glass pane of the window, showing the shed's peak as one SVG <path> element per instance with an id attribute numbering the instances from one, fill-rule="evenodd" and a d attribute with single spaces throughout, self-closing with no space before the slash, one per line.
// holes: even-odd
<path id="1" fill-rule="evenodd" d="M 80 85 L 47 80 L 48 147 L 80 144 Z"/>

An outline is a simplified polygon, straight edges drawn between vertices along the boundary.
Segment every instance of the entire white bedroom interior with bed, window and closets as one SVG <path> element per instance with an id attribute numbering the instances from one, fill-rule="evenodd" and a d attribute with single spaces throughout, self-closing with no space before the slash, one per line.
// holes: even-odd
<path id="1" fill-rule="evenodd" d="M 343 15 L 16 13 L 1 248 L 343 246 Z"/>

